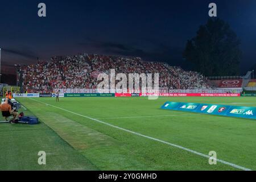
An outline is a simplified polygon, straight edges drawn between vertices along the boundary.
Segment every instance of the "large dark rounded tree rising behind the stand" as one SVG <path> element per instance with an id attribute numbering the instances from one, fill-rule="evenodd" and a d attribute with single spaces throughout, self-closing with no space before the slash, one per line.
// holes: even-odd
<path id="1" fill-rule="evenodd" d="M 228 23 L 210 18 L 188 40 L 183 57 L 205 76 L 232 76 L 240 73 L 240 40 Z"/>

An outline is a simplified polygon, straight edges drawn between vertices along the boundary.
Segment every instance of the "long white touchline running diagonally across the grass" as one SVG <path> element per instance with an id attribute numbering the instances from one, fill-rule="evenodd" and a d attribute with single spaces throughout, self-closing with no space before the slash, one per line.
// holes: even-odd
<path id="1" fill-rule="evenodd" d="M 47 106 L 51 106 L 51 107 L 55 107 L 55 108 L 60 109 L 60 110 L 67 111 L 68 113 L 72 113 L 72 114 L 79 115 L 79 116 L 84 117 L 84 118 L 91 119 L 91 120 L 93 120 L 93 121 L 102 123 L 102 124 L 104 124 L 104 125 L 108 125 L 108 126 L 114 127 L 115 129 L 119 129 L 119 130 L 126 131 L 127 133 L 132 133 L 132 134 L 138 135 L 138 136 L 140 136 L 140 137 L 144 137 L 144 138 L 147 138 L 147 139 L 155 140 L 155 141 L 160 142 L 160 143 L 168 144 L 168 145 L 170 145 L 170 146 L 173 146 L 173 147 L 176 147 L 176 148 L 180 148 L 181 150 L 185 150 L 185 151 L 191 152 L 192 154 L 196 154 L 196 155 L 202 156 L 202 157 L 204 157 L 204 158 L 208 158 L 208 159 L 210 158 L 209 155 L 202 154 L 202 153 L 200 153 L 200 152 L 197 152 L 197 151 L 191 150 L 191 149 L 189 149 L 189 148 L 185 148 L 185 147 L 179 146 L 179 145 L 177 145 L 177 144 L 169 143 L 169 142 L 166 142 L 166 141 L 164 141 L 164 140 L 160 140 L 160 139 L 153 138 L 153 137 L 148 137 L 147 135 L 143 135 L 143 134 L 137 133 L 137 132 L 135 132 L 135 131 L 123 129 L 122 127 L 118 127 L 118 126 L 115 126 L 115 125 L 106 123 L 106 122 L 104 122 L 104 121 L 100 121 L 100 120 L 98 120 L 98 119 L 90 118 L 90 117 L 88 117 L 88 116 L 86 116 L 86 115 L 74 113 L 73 111 L 70 111 L 70 110 L 67 110 L 67 109 L 63 109 L 63 108 L 61 108 L 61 107 L 53 106 L 53 105 L 47 104 L 46 102 L 37 101 L 37 100 L 34 100 L 33 98 L 29 98 L 29 99 L 30 99 L 30 100 L 33 100 L 33 101 L 36 101 L 36 102 L 40 102 L 40 103 L 45 104 L 45 105 L 47 105 Z M 215 158 L 214 158 L 214 159 L 215 159 Z M 251 169 L 249 169 L 249 168 L 245 168 L 245 167 L 242 167 L 242 166 L 238 166 L 237 164 L 233 164 L 233 163 L 230 163 L 230 162 L 226 162 L 225 160 L 221 160 L 221 159 L 215 159 L 215 160 L 216 160 L 217 162 L 226 164 L 226 165 L 228 165 L 228 166 L 232 166 L 232 167 L 237 168 L 237 169 L 242 169 L 242 170 L 244 170 L 244 171 L 251 171 Z"/>

